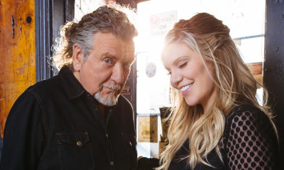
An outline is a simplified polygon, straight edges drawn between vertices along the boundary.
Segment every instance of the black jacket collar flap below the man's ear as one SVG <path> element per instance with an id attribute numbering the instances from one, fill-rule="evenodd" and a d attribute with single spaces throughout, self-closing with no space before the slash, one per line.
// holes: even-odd
<path id="1" fill-rule="evenodd" d="M 69 99 L 76 99 L 86 92 L 80 82 L 75 78 L 69 67 L 61 68 L 58 75 L 63 81 Z"/>

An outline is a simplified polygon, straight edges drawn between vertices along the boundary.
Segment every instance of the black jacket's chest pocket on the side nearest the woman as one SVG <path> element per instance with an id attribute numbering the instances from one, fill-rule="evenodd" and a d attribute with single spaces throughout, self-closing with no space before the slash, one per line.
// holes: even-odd
<path id="1" fill-rule="evenodd" d="M 136 137 L 133 135 L 125 135 L 125 134 L 122 134 L 122 137 L 128 155 L 129 169 L 136 170 L 137 167 Z"/>

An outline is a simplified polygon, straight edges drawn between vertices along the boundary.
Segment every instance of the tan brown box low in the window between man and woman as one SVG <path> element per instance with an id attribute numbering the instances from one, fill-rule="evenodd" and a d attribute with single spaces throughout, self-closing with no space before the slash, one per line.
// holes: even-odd
<path id="1" fill-rule="evenodd" d="M 138 116 L 138 142 L 158 142 L 158 116 Z"/>

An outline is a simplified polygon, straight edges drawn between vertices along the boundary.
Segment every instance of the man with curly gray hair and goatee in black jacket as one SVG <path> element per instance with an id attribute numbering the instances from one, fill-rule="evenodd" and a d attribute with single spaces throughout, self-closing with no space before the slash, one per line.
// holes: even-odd
<path id="1" fill-rule="evenodd" d="M 133 109 L 120 96 L 134 62 L 126 15 L 102 6 L 68 23 L 58 75 L 29 87 L 10 110 L 1 170 L 134 170 Z"/>

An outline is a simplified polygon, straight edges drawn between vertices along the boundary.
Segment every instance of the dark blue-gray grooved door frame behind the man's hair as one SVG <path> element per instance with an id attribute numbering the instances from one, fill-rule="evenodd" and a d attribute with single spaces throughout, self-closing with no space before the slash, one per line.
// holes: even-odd
<path id="1" fill-rule="evenodd" d="M 74 19 L 75 0 L 35 0 L 36 16 L 36 81 L 55 75 L 50 57 L 59 28 Z"/>

